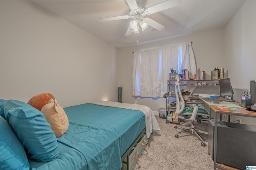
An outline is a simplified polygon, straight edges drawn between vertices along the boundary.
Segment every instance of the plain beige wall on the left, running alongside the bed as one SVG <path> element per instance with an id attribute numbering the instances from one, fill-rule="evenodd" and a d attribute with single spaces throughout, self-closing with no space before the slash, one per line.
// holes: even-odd
<path id="1" fill-rule="evenodd" d="M 117 101 L 117 49 L 28 0 L 0 1 L 0 98 Z"/>

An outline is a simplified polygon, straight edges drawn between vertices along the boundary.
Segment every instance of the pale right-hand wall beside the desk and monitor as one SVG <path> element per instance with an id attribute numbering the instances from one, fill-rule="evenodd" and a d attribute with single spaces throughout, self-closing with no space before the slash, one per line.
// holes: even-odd
<path id="1" fill-rule="evenodd" d="M 255 7 L 255 0 L 246 0 L 225 27 L 225 65 L 235 88 L 250 90 L 250 80 L 256 80 Z M 240 118 L 256 125 L 256 118 Z"/>

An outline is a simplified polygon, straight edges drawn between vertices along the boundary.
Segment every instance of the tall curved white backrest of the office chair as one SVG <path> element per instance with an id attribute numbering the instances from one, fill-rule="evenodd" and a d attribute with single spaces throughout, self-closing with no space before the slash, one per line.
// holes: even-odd
<path id="1" fill-rule="evenodd" d="M 185 107 L 185 100 L 182 96 L 181 90 L 180 90 L 180 76 L 176 75 L 176 82 L 175 82 L 175 96 L 176 96 L 176 111 L 175 115 L 178 116 L 178 114 L 182 113 Z"/>

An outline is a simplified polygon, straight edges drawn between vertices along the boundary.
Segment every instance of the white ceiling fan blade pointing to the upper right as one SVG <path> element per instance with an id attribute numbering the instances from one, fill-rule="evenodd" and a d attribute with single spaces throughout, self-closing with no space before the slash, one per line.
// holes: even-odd
<path id="1" fill-rule="evenodd" d="M 172 8 L 174 6 L 178 6 L 182 3 L 182 0 L 167 0 L 155 6 L 152 6 L 144 11 L 147 15 L 154 14 L 156 12 L 166 10 L 168 8 Z"/>

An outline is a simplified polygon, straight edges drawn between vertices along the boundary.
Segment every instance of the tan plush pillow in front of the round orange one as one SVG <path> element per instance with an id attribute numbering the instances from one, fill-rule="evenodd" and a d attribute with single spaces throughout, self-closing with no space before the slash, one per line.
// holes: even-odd
<path id="1" fill-rule="evenodd" d="M 48 104 L 42 107 L 41 112 L 48 123 L 50 123 L 56 137 L 61 137 L 66 133 L 68 130 L 68 117 L 64 109 L 57 102 L 54 103 L 54 100 L 50 99 Z"/>

